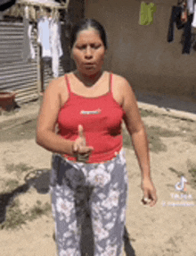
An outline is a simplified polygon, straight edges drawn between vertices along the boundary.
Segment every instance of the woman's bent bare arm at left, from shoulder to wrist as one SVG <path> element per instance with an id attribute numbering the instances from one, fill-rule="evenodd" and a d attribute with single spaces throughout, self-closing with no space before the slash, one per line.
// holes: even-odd
<path id="1" fill-rule="evenodd" d="M 37 119 L 37 144 L 55 153 L 73 155 L 73 141 L 55 133 L 55 125 L 61 109 L 61 90 L 58 81 L 52 81 L 45 90 Z"/>

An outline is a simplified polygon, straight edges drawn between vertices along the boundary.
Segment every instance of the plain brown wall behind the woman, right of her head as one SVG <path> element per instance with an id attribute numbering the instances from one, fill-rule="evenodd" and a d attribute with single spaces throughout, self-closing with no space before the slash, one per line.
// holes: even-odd
<path id="1" fill-rule="evenodd" d="M 141 1 L 87 0 L 86 17 L 100 21 L 108 32 L 105 68 L 119 73 L 135 90 L 196 98 L 196 52 L 182 55 L 183 30 L 167 43 L 172 5 L 177 0 L 154 0 L 153 24 L 139 25 Z M 194 30 L 192 30 L 194 32 Z"/>

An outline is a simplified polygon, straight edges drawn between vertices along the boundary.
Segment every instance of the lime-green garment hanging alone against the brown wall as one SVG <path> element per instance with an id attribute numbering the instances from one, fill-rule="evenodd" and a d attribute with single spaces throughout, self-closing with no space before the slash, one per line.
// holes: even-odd
<path id="1" fill-rule="evenodd" d="M 140 6 L 140 25 L 150 25 L 153 23 L 153 14 L 157 11 L 155 4 L 141 3 Z"/>

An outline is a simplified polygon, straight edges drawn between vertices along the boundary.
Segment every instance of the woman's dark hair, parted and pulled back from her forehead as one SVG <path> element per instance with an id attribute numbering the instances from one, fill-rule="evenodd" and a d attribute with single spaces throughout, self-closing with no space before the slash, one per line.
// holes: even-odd
<path id="1" fill-rule="evenodd" d="M 106 38 L 106 32 L 102 27 L 102 24 L 100 24 L 100 22 L 98 21 L 95 21 L 94 19 L 84 19 L 73 26 L 70 32 L 70 48 L 72 49 L 72 47 L 74 46 L 74 43 L 76 42 L 78 37 L 78 33 L 82 30 L 87 30 L 88 28 L 93 28 L 94 30 L 97 30 L 99 32 L 100 37 L 102 38 L 102 43 L 107 49 L 108 43 Z"/>

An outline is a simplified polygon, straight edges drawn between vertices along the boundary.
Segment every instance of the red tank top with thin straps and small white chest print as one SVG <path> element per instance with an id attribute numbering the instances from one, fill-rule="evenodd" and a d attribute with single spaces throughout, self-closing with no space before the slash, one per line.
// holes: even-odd
<path id="1" fill-rule="evenodd" d="M 97 98 L 79 96 L 70 90 L 67 75 L 69 98 L 61 107 L 58 124 L 64 139 L 75 141 L 78 138 L 78 124 L 83 125 L 86 145 L 94 147 L 88 163 L 100 163 L 114 158 L 122 149 L 122 119 L 124 110 L 112 95 L 112 74 L 110 90 Z M 64 155 L 69 160 L 76 158 Z"/>

